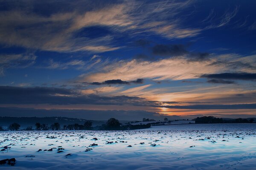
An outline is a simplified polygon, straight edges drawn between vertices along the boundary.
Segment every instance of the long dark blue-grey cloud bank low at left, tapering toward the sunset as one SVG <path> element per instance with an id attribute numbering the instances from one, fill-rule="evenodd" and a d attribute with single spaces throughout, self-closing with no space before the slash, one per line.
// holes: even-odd
<path id="1" fill-rule="evenodd" d="M 84 95 L 82 91 L 67 88 L 0 86 L 1 104 L 49 105 L 155 105 L 140 97 Z"/>

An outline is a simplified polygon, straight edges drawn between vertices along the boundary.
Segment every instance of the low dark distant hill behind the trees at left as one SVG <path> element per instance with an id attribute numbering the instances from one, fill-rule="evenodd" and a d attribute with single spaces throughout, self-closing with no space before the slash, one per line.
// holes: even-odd
<path id="1" fill-rule="evenodd" d="M 86 121 L 88 120 L 67 117 L 0 117 L 0 126 L 6 129 L 7 127 L 9 127 L 10 124 L 16 122 L 20 124 L 20 128 L 23 129 L 28 126 L 32 126 L 33 128 L 35 128 L 36 122 L 39 122 L 41 124 L 48 124 L 48 126 L 52 125 L 55 122 L 58 122 L 62 127 L 63 125 L 70 125 L 75 123 L 83 125 Z M 102 125 L 106 122 L 95 120 L 89 121 L 93 122 L 93 126 Z"/>

